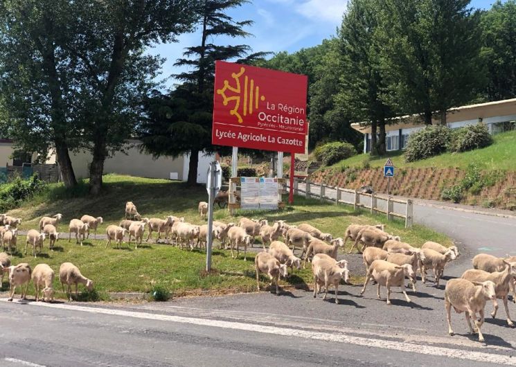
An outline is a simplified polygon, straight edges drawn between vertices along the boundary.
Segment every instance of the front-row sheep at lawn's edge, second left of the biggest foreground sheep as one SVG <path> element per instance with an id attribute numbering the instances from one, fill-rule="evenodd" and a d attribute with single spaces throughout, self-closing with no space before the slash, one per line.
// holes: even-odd
<path id="1" fill-rule="evenodd" d="M 339 283 L 349 283 L 348 262 L 337 261 L 324 253 L 318 253 L 312 259 L 312 274 L 314 274 L 314 298 L 317 298 L 321 286 L 324 287 L 323 301 L 328 296 L 328 287 L 335 288 L 335 303 L 339 303 Z"/>

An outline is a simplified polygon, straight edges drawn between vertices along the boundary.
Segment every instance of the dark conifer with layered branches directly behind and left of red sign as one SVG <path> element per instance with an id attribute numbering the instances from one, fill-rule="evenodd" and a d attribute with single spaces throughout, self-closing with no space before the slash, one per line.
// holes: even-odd
<path id="1" fill-rule="evenodd" d="M 190 66 L 191 69 L 175 75 L 183 84 L 171 91 L 169 96 L 154 93 L 147 103 L 149 118 L 140 133 L 144 150 L 154 156 L 178 156 L 189 152 L 188 183 L 191 185 L 197 183 L 199 152 L 214 150 L 211 145 L 211 116 L 215 60 L 249 63 L 267 55 L 248 55 L 251 48 L 243 44 L 220 46 L 209 42 L 219 36 L 249 36 L 243 28 L 250 26 L 252 21 L 233 21 L 226 14 L 243 3 L 247 1 L 201 1 L 198 24 L 202 29 L 200 44 L 186 48 L 185 57 L 176 62 L 177 66 Z"/>

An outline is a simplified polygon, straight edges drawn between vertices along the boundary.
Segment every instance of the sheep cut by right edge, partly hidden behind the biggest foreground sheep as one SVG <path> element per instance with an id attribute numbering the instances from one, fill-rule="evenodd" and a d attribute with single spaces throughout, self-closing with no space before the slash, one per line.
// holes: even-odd
<path id="1" fill-rule="evenodd" d="M 505 312 L 507 314 L 507 323 L 509 326 L 514 326 L 513 321 L 510 320 L 509 307 L 508 307 L 508 295 L 510 292 L 510 284 L 513 283 L 513 279 L 516 276 L 516 262 L 506 262 L 506 269 L 504 271 L 495 271 L 488 273 L 487 271 L 479 269 L 469 269 L 462 274 L 461 278 L 470 280 L 472 282 L 486 282 L 487 280 L 495 283 L 495 292 L 497 298 L 500 298 L 504 302 Z M 495 310 L 492 311 L 491 316 L 494 319 L 497 316 L 498 303 L 493 301 Z"/>

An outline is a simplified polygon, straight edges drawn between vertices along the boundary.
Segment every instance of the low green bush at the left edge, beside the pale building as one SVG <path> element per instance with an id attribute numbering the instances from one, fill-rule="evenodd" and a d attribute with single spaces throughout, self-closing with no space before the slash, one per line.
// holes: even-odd
<path id="1" fill-rule="evenodd" d="M 0 188 L 0 212 L 6 212 L 17 208 L 24 200 L 30 199 L 41 193 L 45 188 L 44 181 L 37 175 L 30 179 L 15 178 L 10 183 L 2 185 Z"/>

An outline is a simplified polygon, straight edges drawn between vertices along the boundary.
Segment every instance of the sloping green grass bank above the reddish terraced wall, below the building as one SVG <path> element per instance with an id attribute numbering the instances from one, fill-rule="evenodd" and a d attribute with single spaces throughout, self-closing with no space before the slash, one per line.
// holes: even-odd
<path id="1" fill-rule="evenodd" d="M 391 157 L 396 168 L 462 168 L 468 164 L 477 163 L 483 170 L 516 170 L 516 132 L 505 132 L 493 136 L 495 142 L 489 147 L 472 150 L 463 153 L 445 153 L 429 159 L 407 163 L 402 152 L 391 152 L 385 156 L 371 158 L 369 154 L 358 154 L 349 159 L 335 163 L 331 168 L 340 170 L 341 167 L 362 168 L 365 162 L 371 168 L 382 167 L 387 159 Z"/>

